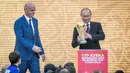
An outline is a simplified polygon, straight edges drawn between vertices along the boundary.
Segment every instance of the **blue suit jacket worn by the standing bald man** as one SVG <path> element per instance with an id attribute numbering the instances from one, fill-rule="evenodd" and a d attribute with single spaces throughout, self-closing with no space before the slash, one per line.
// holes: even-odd
<path id="1" fill-rule="evenodd" d="M 16 35 L 15 51 L 20 52 L 21 60 L 30 60 L 36 54 L 32 48 L 34 45 L 39 46 L 42 50 L 39 54 L 44 54 L 38 31 L 38 20 L 32 17 L 34 32 L 30 29 L 25 16 L 23 15 L 14 23 L 14 32 Z"/>

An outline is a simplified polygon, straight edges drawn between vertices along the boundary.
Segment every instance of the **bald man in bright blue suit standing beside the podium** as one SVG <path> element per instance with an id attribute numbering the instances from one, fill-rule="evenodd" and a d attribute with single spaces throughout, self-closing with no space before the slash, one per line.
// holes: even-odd
<path id="1" fill-rule="evenodd" d="M 16 35 L 15 51 L 20 52 L 20 73 L 40 73 L 39 56 L 45 60 L 44 50 L 40 41 L 38 31 L 38 20 L 34 18 L 35 5 L 26 3 L 25 14 L 14 23 Z"/>

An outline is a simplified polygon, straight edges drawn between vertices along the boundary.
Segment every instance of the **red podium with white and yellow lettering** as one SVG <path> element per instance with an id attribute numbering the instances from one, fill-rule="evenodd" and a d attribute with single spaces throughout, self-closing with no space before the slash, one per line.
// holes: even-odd
<path id="1" fill-rule="evenodd" d="M 78 50 L 78 73 L 108 73 L 107 50 Z"/>

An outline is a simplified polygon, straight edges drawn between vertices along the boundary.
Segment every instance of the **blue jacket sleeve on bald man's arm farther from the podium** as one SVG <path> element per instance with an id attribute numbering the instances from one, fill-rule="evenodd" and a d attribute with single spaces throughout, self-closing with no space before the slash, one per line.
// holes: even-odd
<path id="1" fill-rule="evenodd" d="M 16 22 L 14 23 L 14 32 L 16 35 L 16 41 L 18 41 L 27 49 L 32 50 L 34 44 L 31 44 L 30 42 L 28 42 L 27 40 L 23 38 L 24 31 L 23 31 L 22 23 L 20 22 L 20 20 L 16 20 Z"/>

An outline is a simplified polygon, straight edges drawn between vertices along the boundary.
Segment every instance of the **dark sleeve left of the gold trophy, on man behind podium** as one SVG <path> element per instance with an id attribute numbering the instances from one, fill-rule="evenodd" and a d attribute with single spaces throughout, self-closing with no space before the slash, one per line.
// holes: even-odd
<path id="1" fill-rule="evenodd" d="M 78 36 L 78 32 L 77 32 L 77 29 L 75 27 L 74 31 L 73 31 L 73 37 L 72 37 L 72 43 L 71 43 L 73 48 L 76 48 L 79 45 L 77 36 Z"/>

